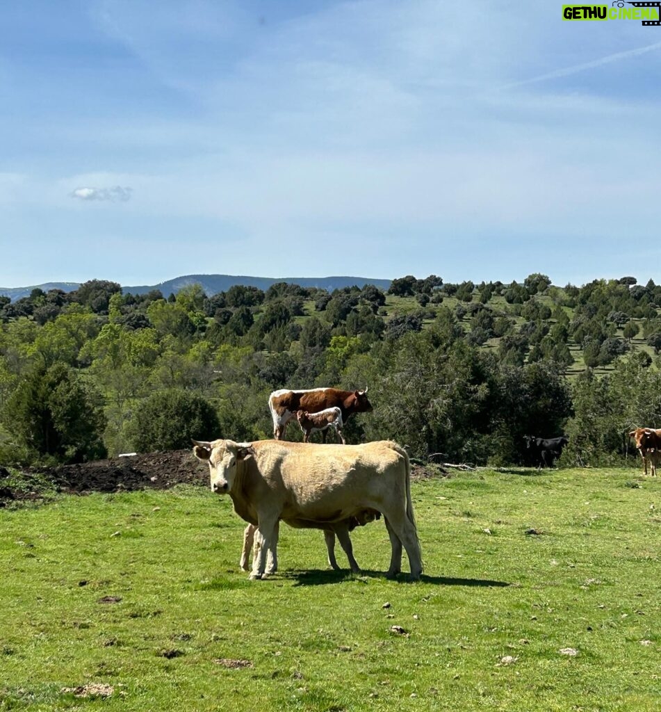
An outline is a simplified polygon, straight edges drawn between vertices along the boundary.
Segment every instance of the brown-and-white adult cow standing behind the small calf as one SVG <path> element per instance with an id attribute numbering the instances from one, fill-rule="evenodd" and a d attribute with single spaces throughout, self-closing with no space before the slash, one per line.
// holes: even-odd
<path id="1" fill-rule="evenodd" d="M 268 397 L 268 407 L 273 418 L 273 437 L 285 439 L 287 423 L 295 417 L 298 410 L 306 413 L 318 413 L 327 408 L 339 408 L 342 422 L 346 423 L 352 413 L 367 413 L 372 404 L 364 391 L 340 391 L 337 388 L 312 388 L 309 390 L 290 391 L 280 389 Z"/>

